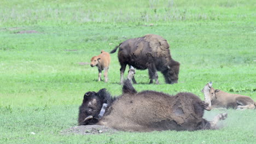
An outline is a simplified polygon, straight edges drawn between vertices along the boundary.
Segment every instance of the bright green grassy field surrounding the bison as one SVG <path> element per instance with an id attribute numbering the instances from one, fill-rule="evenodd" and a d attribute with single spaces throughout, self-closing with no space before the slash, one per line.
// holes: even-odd
<path id="1" fill-rule="evenodd" d="M 149 33 L 168 40 L 181 63 L 179 81 L 167 85 L 159 73 L 160 85 L 148 85 L 148 71 L 137 70 L 137 91 L 203 98 L 202 87 L 212 81 L 256 100 L 255 6 L 251 0 L 0 1 L 0 143 L 255 143 L 255 110 L 206 112 L 208 120 L 229 113 L 219 130 L 60 134 L 77 125 L 85 92 L 121 94 L 117 53 L 108 83 L 97 82 L 97 68 L 79 63 Z M 38 33 L 18 33 L 28 30 Z"/>

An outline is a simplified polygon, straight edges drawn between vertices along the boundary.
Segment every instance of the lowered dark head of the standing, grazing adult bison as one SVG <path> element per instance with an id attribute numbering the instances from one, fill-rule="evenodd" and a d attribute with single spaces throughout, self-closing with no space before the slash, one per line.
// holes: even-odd
<path id="1" fill-rule="evenodd" d="M 178 83 L 179 79 L 179 63 L 171 63 L 170 65 L 167 65 L 167 71 L 166 73 L 163 73 L 165 76 L 165 82 L 166 83 Z"/>

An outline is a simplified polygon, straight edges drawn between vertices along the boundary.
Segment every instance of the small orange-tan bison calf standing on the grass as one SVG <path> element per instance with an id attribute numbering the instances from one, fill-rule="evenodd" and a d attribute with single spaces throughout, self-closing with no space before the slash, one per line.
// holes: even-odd
<path id="1" fill-rule="evenodd" d="M 105 82 L 108 82 L 108 68 L 110 55 L 108 52 L 101 51 L 101 54 L 91 58 L 91 67 L 98 67 L 98 81 L 101 81 L 101 71 L 104 70 Z"/>

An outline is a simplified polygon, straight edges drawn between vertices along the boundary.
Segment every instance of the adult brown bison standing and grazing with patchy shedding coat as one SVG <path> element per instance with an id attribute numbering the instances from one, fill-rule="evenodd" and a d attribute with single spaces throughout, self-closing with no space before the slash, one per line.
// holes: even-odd
<path id="1" fill-rule="evenodd" d="M 144 37 L 125 40 L 116 46 L 110 53 L 118 51 L 118 59 L 121 65 L 121 84 L 124 80 L 126 65 L 132 65 L 136 69 L 148 69 L 149 83 L 158 84 L 158 71 L 165 77 L 166 83 L 177 83 L 179 75 L 179 63 L 171 57 L 167 40 L 159 35 L 147 34 Z M 132 78 L 136 83 L 135 78 Z"/>

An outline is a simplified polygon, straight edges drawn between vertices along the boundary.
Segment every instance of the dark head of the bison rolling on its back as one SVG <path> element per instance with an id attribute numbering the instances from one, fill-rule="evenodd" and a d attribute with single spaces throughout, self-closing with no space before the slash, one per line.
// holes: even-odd
<path id="1" fill-rule="evenodd" d="M 111 101 L 110 94 L 104 88 L 98 92 L 86 92 L 79 107 L 78 125 L 97 123 Z"/>

